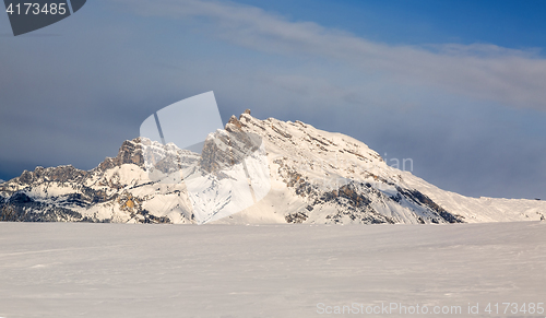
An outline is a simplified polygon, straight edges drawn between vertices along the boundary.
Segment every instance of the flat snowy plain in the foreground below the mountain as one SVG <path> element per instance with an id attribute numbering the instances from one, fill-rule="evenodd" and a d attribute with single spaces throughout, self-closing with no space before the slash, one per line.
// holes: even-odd
<path id="1" fill-rule="evenodd" d="M 546 316 L 484 311 L 505 302 L 546 303 L 546 222 L 0 223 L 7 318 Z M 320 314 L 382 303 L 462 313 Z"/>

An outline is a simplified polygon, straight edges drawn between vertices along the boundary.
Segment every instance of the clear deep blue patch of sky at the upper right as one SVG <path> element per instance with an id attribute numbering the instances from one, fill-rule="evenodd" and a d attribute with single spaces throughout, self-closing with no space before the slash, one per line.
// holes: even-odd
<path id="1" fill-rule="evenodd" d="M 389 44 L 489 43 L 510 48 L 541 48 L 546 43 L 546 2 L 541 0 L 239 2 Z"/>

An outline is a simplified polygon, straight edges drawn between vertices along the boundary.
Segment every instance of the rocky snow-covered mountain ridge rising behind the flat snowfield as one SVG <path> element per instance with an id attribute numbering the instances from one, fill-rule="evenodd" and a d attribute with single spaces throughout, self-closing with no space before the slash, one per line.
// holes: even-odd
<path id="1" fill-rule="evenodd" d="M 0 221 L 476 223 L 538 221 L 546 202 L 468 198 L 390 167 L 366 144 L 246 111 L 201 153 L 146 138 L 85 172 L 37 167 L 0 184 Z"/>

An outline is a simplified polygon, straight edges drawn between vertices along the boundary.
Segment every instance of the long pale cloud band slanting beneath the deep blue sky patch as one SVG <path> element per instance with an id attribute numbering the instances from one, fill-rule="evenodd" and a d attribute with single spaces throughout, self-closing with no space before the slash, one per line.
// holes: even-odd
<path id="1" fill-rule="evenodd" d="M 546 110 L 546 60 L 536 49 L 495 45 L 392 46 L 313 22 L 292 22 L 233 2 L 119 0 L 140 14 L 195 19 L 212 36 L 253 50 L 312 55 L 380 72 L 401 84 Z"/>

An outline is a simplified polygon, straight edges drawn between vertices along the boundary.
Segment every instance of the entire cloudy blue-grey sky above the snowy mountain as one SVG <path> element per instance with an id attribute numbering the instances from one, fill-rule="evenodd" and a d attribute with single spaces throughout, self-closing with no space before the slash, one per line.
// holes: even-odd
<path id="1" fill-rule="evenodd" d="M 546 198 L 544 1 L 87 2 L 16 38 L 0 14 L 0 178 L 93 168 L 214 91 L 224 121 L 301 120 L 447 190 Z"/>

